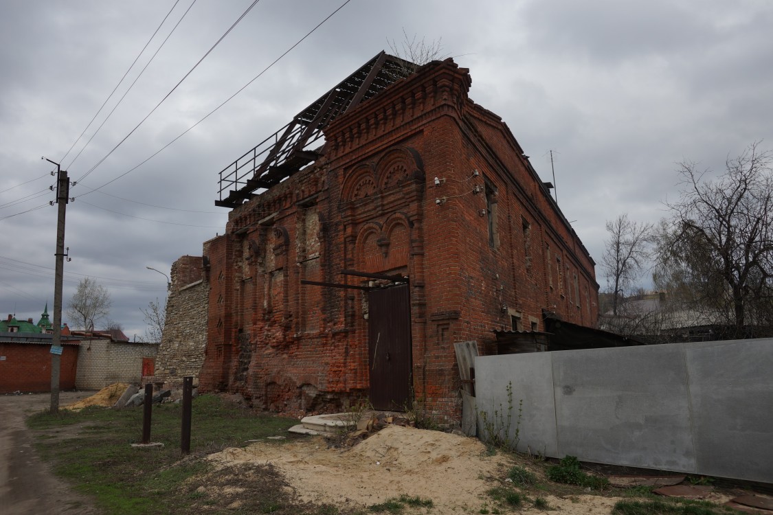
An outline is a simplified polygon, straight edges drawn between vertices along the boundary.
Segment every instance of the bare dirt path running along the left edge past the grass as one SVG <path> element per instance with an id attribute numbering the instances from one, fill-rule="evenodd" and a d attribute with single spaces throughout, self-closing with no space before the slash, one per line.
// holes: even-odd
<path id="1" fill-rule="evenodd" d="M 60 405 L 93 395 L 64 391 Z M 0 507 L 3 515 L 95 515 L 90 500 L 51 473 L 33 446 L 24 418 L 48 408 L 51 395 L 0 395 Z"/>

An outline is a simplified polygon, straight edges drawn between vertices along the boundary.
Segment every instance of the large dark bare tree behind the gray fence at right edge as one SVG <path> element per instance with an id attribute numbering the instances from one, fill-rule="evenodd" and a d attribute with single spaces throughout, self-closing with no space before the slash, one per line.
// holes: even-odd
<path id="1" fill-rule="evenodd" d="M 716 180 L 679 164 L 681 191 L 659 242 L 659 262 L 671 280 L 706 310 L 724 317 L 730 337 L 769 326 L 773 297 L 773 177 L 771 154 L 751 144 L 727 158 Z M 719 320 L 715 320 L 717 323 Z M 754 332 L 754 331 L 752 331 Z"/>

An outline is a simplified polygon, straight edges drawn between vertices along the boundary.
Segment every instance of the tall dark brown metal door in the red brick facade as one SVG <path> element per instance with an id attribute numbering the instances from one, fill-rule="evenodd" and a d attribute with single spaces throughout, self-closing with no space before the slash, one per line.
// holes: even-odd
<path id="1" fill-rule="evenodd" d="M 410 405 L 410 296 L 408 285 L 368 292 L 370 403 L 405 411 Z"/>

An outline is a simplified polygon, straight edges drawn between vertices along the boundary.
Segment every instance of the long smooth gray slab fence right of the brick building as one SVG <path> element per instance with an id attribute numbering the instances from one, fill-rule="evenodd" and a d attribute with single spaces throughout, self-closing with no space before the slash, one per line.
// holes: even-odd
<path id="1" fill-rule="evenodd" d="M 773 483 L 771 338 L 480 356 L 475 379 L 478 435 L 512 409 L 519 451 Z"/>

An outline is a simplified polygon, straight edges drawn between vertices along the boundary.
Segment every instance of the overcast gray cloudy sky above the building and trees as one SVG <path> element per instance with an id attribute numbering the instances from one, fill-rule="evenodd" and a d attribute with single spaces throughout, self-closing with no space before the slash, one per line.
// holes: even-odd
<path id="1" fill-rule="evenodd" d="M 163 274 L 223 234 L 218 172 L 404 33 L 470 69 L 470 98 L 545 181 L 552 151 L 558 204 L 597 263 L 607 220 L 666 216 L 679 162 L 711 177 L 749 144 L 773 149 L 767 0 L 261 0 L 243 15 L 252 4 L 0 0 L 2 316 L 53 313 L 56 167 L 41 157 L 77 181 L 65 305 L 92 277 L 140 338 Z"/>

